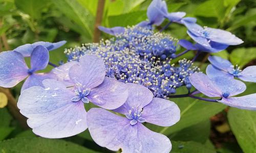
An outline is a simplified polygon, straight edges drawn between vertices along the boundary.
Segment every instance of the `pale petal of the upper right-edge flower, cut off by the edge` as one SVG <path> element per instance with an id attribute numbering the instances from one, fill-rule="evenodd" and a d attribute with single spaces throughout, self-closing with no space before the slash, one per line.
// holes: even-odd
<path id="1" fill-rule="evenodd" d="M 246 67 L 238 78 L 247 82 L 256 82 L 256 66 Z"/>

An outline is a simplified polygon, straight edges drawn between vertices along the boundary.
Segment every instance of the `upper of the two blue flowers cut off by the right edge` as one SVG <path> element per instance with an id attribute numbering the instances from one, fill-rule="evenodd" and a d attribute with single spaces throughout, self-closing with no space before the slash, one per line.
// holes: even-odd
<path id="1" fill-rule="evenodd" d="M 223 76 L 227 78 L 239 78 L 247 82 L 256 82 L 256 66 L 248 66 L 241 70 L 238 65 L 233 66 L 228 60 L 218 56 L 208 57 L 211 65 L 207 66 L 206 73 L 212 78 L 215 76 Z"/>

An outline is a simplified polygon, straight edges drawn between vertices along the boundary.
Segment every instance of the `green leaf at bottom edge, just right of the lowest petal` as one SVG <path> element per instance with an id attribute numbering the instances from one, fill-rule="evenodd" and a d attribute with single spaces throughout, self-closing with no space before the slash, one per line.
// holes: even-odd
<path id="1" fill-rule="evenodd" d="M 172 141 L 172 145 L 172 153 L 216 153 L 214 149 L 193 141 Z"/>

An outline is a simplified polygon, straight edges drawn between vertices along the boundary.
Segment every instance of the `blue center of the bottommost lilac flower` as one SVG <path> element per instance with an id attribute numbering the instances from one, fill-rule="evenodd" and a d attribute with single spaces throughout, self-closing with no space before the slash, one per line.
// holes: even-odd
<path id="1" fill-rule="evenodd" d="M 145 118 L 141 117 L 142 111 L 143 110 L 137 106 L 136 108 L 132 107 L 132 109 L 129 110 L 129 113 L 125 114 L 126 118 L 131 119 L 131 125 L 135 125 L 137 122 L 143 123 L 146 121 Z"/>

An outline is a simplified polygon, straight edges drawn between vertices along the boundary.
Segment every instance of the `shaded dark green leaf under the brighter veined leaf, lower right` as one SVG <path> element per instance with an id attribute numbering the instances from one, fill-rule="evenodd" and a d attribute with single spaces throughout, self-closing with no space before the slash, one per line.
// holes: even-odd
<path id="1" fill-rule="evenodd" d="M 205 143 L 210 134 L 210 120 L 204 120 L 195 125 L 170 135 L 170 140 L 174 141 L 196 141 Z"/>

